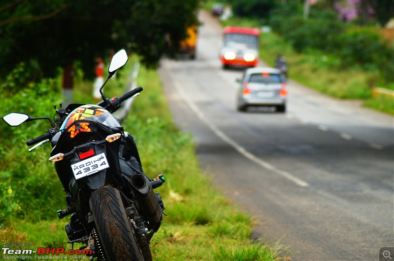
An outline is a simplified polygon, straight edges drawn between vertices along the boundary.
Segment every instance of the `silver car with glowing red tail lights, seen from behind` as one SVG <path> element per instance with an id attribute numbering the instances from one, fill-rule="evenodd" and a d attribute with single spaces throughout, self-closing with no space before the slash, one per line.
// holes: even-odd
<path id="1" fill-rule="evenodd" d="M 257 67 L 246 69 L 237 90 L 237 110 L 246 111 L 251 106 L 276 107 L 286 112 L 286 77 L 278 69 Z"/>

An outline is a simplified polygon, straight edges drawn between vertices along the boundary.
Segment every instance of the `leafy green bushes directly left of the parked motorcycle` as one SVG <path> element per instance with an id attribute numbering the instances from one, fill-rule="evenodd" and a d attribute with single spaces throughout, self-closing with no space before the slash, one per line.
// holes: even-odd
<path id="1" fill-rule="evenodd" d="M 0 84 L 1 116 L 21 112 L 33 117 L 54 114 L 53 105 L 60 102 L 58 82 L 33 80 L 34 68 L 21 63 Z M 15 215 L 29 216 L 37 221 L 54 217 L 52 202 L 64 201 L 56 173 L 48 162 L 50 145 L 43 145 L 29 153 L 26 141 L 43 134 L 48 120 L 23 123 L 10 127 L 0 123 L 0 225 Z M 56 189 L 55 189 L 56 188 Z"/>

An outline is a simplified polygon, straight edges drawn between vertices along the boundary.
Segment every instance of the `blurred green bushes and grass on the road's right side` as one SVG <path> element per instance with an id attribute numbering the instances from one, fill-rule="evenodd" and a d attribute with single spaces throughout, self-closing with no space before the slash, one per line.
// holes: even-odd
<path id="1" fill-rule="evenodd" d="M 203 7 L 209 11 L 213 2 L 205 1 Z M 260 38 L 260 56 L 269 66 L 281 54 L 289 64 L 289 77 L 298 83 L 335 98 L 362 100 L 366 107 L 394 115 L 393 95 L 373 91 L 376 87 L 394 89 L 393 43 L 383 39 L 376 26 L 345 24 L 325 6 L 314 6 L 304 20 L 297 1 L 271 6 L 270 13 L 261 16 L 251 6 L 265 1 L 222 2 L 236 3 L 241 10 L 234 13 L 250 10 L 250 15 L 221 20 L 223 26 L 271 29 Z"/>

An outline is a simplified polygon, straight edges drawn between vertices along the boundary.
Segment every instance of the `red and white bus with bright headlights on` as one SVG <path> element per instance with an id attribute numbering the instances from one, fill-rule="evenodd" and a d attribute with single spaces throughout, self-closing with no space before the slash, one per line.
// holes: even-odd
<path id="1" fill-rule="evenodd" d="M 226 27 L 220 59 L 223 68 L 229 66 L 255 67 L 259 63 L 260 30 L 248 27 Z"/>

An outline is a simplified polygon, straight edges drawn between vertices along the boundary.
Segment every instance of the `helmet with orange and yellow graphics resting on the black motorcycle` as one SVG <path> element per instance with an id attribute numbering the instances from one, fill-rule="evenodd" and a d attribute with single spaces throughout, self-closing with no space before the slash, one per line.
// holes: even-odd
<path id="1" fill-rule="evenodd" d="M 120 123 L 107 110 L 97 105 L 88 104 L 82 105 L 73 110 L 66 117 L 60 131 L 64 132 L 66 128 L 76 120 L 83 120 L 87 118 L 89 118 L 89 121 L 99 122 L 109 127 L 121 127 Z"/>

